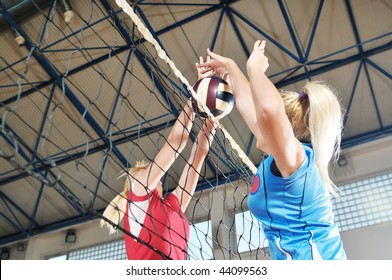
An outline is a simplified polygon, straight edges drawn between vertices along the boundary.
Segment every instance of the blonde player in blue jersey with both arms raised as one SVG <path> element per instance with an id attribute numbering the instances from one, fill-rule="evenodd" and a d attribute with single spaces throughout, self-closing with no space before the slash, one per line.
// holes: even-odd
<path id="1" fill-rule="evenodd" d="M 346 259 L 334 224 L 328 165 L 340 149 L 342 110 L 331 87 L 308 82 L 279 92 L 264 74 L 265 41 L 256 41 L 248 78 L 229 58 L 207 49 L 205 71 L 227 74 L 236 106 L 268 157 L 259 165 L 248 206 L 263 225 L 273 259 Z M 252 106 L 249 106 L 249 105 Z"/>

